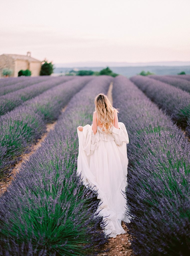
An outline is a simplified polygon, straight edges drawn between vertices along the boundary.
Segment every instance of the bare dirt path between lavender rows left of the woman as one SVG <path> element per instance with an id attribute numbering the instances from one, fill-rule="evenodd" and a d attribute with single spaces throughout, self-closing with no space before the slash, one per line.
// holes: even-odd
<path id="1" fill-rule="evenodd" d="M 65 106 L 62 109 L 62 112 L 65 111 L 67 106 Z M 11 173 L 9 174 L 9 177 L 6 179 L 6 181 L 4 182 L 0 182 L 0 196 L 7 190 L 7 187 L 10 185 L 10 183 L 12 182 L 12 180 L 14 179 L 16 173 L 18 173 L 20 171 L 20 167 L 22 165 L 23 162 L 28 161 L 28 159 L 30 158 L 31 155 L 33 155 L 36 150 L 41 147 L 42 142 L 45 140 L 45 138 L 47 137 L 48 133 L 54 129 L 55 124 L 57 123 L 57 121 L 55 121 L 54 123 L 51 124 L 47 124 L 46 125 L 46 133 L 43 134 L 43 136 L 41 137 L 41 139 L 38 140 L 38 142 L 36 144 L 33 144 L 31 146 L 31 151 L 27 154 L 21 155 L 21 161 L 19 161 L 14 168 L 12 169 Z"/>

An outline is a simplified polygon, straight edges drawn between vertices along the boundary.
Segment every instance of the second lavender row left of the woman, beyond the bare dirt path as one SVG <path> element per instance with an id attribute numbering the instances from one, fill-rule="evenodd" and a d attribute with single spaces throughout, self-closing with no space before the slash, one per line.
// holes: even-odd
<path id="1" fill-rule="evenodd" d="M 70 98 L 92 77 L 62 83 L 0 117 L 0 176 L 4 178 L 19 155 L 41 137 L 46 123 L 57 119 Z"/>

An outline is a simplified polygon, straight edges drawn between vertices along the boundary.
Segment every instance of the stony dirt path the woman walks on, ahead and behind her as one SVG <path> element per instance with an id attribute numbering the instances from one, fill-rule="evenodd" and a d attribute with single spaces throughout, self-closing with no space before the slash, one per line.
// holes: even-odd
<path id="1" fill-rule="evenodd" d="M 113 89 L 113 82 L 110 83 L 108 89 L 108 98 L 111 104 L 113 105 L 113 98 L 112 98 L 112 89 Z M 109 252 L 98 254 L 99 256 L 132 256 L 132 249 L 131 249 L 131 236 L 127 233 L 127 227 L 125 222 L 122 221 L 121 225 L 123 229 L 126 231 L 126 234 L 117 235 L 116 238 L 109 238 L 108 244 L 104 246 L 104 249 L 110 248 Z M 98 256 L 97 255 L 97 256 Z"/>

